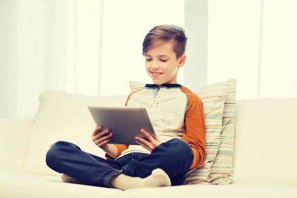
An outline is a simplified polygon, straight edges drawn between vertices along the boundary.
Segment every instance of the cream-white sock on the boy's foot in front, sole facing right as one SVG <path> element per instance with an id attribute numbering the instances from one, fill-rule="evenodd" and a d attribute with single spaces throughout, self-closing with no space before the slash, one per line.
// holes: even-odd
<path id="1" fill-rule="evenodd" d="M 155 169 L 146 178 L 130 177 L 125 174 L 113 176 L 110 185 L 116 189 L 128 190 L 135 188 L 151 188 L 161 186 L 171 186 L 170 178 L 162 169 Z"/>

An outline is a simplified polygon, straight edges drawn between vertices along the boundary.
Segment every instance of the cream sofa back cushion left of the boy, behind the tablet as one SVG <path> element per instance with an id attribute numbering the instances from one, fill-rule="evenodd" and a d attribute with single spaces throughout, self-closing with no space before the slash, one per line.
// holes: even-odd
<path id="1" fill-rule="evenodd" d="M 60 175 L 46 165 L 46 153 L 51 144 L 67 141 L 84 151 L 104 157 L 104 152 L 92 141 L 95 122 L 88 105 L 124 106 L 127 96 L 91 97 L 62 92 L 45 91 L 29 140 L 23 167 L 26 174 Z"/>

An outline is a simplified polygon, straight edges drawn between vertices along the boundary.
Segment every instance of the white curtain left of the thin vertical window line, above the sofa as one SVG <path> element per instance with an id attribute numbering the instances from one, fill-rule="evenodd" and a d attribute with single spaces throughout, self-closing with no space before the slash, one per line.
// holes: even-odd
<path id="1" fill-rule="evenodd" d="M 102 1 L 1 0 L 0 7 L 0 117 L 34 117 L 44 90 L 99 95 Z"/>

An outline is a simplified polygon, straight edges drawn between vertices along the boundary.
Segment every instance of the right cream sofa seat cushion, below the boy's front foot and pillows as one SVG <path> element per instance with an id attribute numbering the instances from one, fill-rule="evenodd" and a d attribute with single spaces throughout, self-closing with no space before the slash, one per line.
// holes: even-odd
<path id="1" fill-rule="evenodd" d="M 199 184 L 131 189 L 125 191 L 123 195 L 124 198 L 297 198 L 297 188 L 292 186 Z"/>

